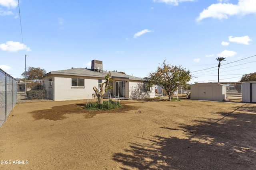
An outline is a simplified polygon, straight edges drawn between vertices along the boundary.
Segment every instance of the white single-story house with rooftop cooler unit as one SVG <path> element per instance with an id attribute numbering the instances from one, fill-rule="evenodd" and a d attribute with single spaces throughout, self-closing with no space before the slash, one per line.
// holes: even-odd
<path id="1" fill-rule="evenodd" d="M 40 79 L 42 81 L 54 81 L 48 88 L 54 88 L 54 100 L 83 100 L 94 98 L 95 86 L 100 90 L 100 84 L 105 82 L 105 76 L 108 71 L 103 70 L 102 61 L 93 60 L 92 67 L 89 68 L 71 68 L 67 70 L 52 71 L 44 74 Z M 155 87 L 147 88 L 147 80 L 122 74 L 120 72 L 111 72 L 112 90 L 107 90 L 104 97 L 138 99 L 150 98 L 155 96 Z M 47 88 L 46 88 L 47 90 Z"/>

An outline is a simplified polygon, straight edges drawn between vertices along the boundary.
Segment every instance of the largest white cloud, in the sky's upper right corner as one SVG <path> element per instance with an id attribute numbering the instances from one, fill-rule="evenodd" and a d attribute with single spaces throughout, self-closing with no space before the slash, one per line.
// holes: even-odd
<path id="1" fill-rule="evenodd" d="M 238 0 L 238 4 L 212 4 L 207 9 L 204 9 L 196 20 L 201 21 L 204 18 L 217 18 L 222 20 L 228 19 L 228 16 L 244 16 L 252 13 L 256 14 L 256 0 Z"/>

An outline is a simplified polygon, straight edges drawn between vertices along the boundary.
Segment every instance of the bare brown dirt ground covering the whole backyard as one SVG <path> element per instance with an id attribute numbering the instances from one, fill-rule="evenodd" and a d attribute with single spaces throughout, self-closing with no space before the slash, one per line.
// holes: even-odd
<path id="1" fill-rule="evenodd" d="M 0 169 L 255 170 L 256 105 L 124 100 L 17 104 L 0 128 Z"/>

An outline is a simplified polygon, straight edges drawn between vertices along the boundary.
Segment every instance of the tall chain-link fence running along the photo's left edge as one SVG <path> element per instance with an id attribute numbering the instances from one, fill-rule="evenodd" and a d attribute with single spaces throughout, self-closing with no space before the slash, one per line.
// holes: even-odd
<path id="1" fill-rule="evenodd" d="M 0 127 L 17 102 L 17 81 L 0 69 Z"/>

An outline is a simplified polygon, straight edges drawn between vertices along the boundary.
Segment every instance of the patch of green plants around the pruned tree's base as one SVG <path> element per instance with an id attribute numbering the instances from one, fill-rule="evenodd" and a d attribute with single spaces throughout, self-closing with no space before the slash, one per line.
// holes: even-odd
<path id="1" fill-rule="evenodd" d="M 84 109 L 87 110 L 110 110 L 121 108 L 122 105 L 119 102 L 114 102 L 113 100 L 103 101 L 103 104 L 98 104 L 94 102 L 92 104 L 88 103 L 87 106 L 84 106 Z"/>

